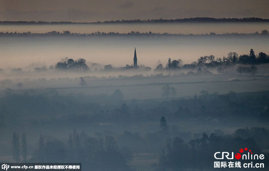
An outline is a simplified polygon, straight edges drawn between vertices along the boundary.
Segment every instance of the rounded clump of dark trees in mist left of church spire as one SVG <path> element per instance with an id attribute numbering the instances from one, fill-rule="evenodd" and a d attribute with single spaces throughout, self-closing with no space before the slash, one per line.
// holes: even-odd
<path id="1" fill-rule="evenodd" d="M 87 71 L 89 70 L 86 60 L 79 58 L 77 60 L 65 58 L 61 62 L 55 65 L 57 70 L 77 70 L 77 71 Z"/>

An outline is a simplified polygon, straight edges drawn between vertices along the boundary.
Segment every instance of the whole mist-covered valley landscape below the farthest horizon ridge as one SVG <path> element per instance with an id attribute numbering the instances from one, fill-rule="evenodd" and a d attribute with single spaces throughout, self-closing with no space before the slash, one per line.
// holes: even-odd
<path id="1" fill-rule="evenodd" d="M 247 147 L 265 155 L 255 162 L 267 170 L 267 30 L 267 22 L 1 24 L 0 162 L 213 171 L 215 152 Z"/>

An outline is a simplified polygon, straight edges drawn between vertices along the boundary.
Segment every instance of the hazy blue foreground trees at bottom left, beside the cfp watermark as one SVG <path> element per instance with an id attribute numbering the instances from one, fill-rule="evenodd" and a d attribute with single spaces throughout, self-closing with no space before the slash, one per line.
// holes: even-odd
<path id="1" fill-rule="evenodd" d="M 42 135 L 31 162 L 80 162 L 84 169 L 94 171 L 129 171 L 128 161 L 132 154 L 120 150 L 112 136 L 89 137 L 76 129 L 67 142 L 48 140 Z"/>

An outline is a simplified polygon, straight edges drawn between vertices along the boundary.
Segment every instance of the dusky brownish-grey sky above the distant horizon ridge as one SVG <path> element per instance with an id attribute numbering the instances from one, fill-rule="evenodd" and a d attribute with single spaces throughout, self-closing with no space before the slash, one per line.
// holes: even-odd
<path id="1" fill-rule="evenodd" d="M 0 0 L 1 21 L 269 18 L 269 0 Z"/>

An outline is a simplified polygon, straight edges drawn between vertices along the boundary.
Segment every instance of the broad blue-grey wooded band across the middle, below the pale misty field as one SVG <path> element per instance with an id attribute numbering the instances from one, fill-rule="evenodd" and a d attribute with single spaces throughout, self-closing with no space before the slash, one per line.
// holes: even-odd
<path id="1" fill-rule="evenodd" d="M 27 94 L 8 92 L 6 96 L 0 98 L 0 103 L 4 105 L 4 108 L 0 108 L 0 112 L 13 113 L 13 115 L 2 115 L 1 121 L 12 120 L 13 123 L 19 125 L 23 121 L 32 126 L 42 121 L 34 120 L 31 113 L 45 117 L 65 115 L 67 117 L 61 123 L 72 126 L 98 122 L 156 121 L 162 116 L 175 121 L 188 121 L 193 118 L 206 121 L 208 118 L 215 118 L 220 122 L 230 119 L 233 123 L 234 119 L 239 119 L 242 116 L 256 121 L 268 121 L 268 97 L 267 92 L 262 95 L 259 93 L 244 95 L 235 92 L 218 94 L 203 90 L 200 95 L 196 95 L 194 98 L 144 102 L 139 100 L 125 101 L 120 90 L 115 90 L 112 95 L 75 96 L 59 95 L 55 90 L 43 95 L 31 94 L 30 92 Z M 263 106 L 265 109 L 263 107 L 255 108 L 256 105 Z M 21 115 L 22 111 L 25 113 L 24 115 Z M 72 113 L 76 113 L 76 115 Z M 50 121 L 44 122 L 44 124 L 49 124 Z M 0 123 L 3 126 L 8 126 L 7 122 Z"/>

